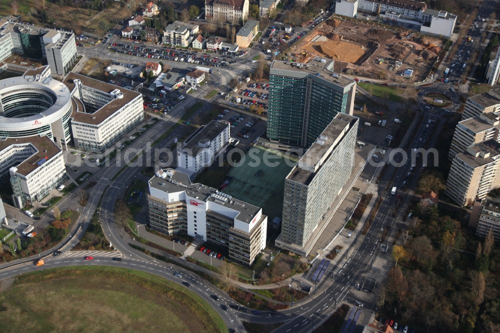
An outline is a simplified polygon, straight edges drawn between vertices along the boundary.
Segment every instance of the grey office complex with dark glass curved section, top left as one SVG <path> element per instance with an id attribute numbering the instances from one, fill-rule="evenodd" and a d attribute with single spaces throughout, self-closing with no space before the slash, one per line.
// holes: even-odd
<path id="1" fill-rule="evenodd" d="M 53 73 L 64 75 L 76 62 L 74 34 L 0 21 L 0 61 L 13 53 L 47 59 Z"/>

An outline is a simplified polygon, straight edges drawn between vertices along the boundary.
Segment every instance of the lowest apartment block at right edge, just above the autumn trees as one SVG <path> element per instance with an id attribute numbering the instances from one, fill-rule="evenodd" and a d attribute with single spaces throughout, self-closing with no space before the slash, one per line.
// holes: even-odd
<path id="1" fill-rule="evenodd" d="M 500 241 L 500 200 L 484 198 L 476 200 L 470 213 L 469 226 L 475 229 L 475 235 L 486 237 L 493 230 L 495 241 Z"/>

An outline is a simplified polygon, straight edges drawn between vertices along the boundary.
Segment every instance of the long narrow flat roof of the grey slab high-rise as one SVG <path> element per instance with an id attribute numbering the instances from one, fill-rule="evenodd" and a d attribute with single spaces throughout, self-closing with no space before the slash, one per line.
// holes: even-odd
<path id="1" fill-rule="evenodd" d="M 357 119 L 348 114 L 338 113 L 300 158 L 287 179 L 308 185 L 321 164 L 327 159 L 326 156 L 335 149 L 344 133 L 352 128 Z"/>

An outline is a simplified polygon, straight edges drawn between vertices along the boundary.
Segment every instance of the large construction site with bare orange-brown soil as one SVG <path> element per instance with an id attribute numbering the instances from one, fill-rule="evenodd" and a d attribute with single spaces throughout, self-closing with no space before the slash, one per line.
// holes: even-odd
<path id="1" fill-rule="evenodd" d="M 335 60 L 335 71 L 391 81 L 425 79 L 443 41 L 411 30 L 328 19 L 294 43 L 288 54 L 298 62 L 316 56 Z"/>

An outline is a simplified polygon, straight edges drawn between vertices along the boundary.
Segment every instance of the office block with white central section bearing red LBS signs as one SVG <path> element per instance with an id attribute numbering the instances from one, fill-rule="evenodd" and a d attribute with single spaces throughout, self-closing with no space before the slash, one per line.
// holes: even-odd
<path id="1" fill-rule="evenodd" d="M 186 173 L 160 170 L 149 180 L 149 225 L 165 234 L 187 233 L 225 248 L 231 261 L 250 266 L 265 248 L 262 208 L 191 183 Z"/>

